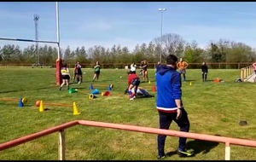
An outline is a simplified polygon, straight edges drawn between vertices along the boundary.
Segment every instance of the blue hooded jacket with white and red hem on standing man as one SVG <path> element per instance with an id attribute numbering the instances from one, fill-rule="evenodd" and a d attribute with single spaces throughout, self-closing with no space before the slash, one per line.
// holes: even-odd
<path id="1" fill-rule="evenodd" d="M 176 112 L 175 100 L 181 100 L 182 84 L 179 72 L 172 67 L 162 65 L 156 73 L 156 108 L 158 111 L 172 113 Z"/>

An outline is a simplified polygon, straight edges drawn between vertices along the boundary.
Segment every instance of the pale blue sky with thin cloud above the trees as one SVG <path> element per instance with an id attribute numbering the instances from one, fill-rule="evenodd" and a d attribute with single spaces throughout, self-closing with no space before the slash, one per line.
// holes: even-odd
<path id="1" fill-rule="evenodd" d="M 166 8 L 163 33 L 177 33 L 205 47 L 227 38 L 256 47 L 256 3 L 59 3 L 61 47 L 84 45 L 134 49 L 160 37 L 159 8 Z M 56 40 L 55 3 L 0 3 L 0 37 Z M 26 47 L 32 43 L 3 42 Z M 41 43 L 42 44 L 42 43 Z M 42 44 L 44 45 L 44 44 Z"/>

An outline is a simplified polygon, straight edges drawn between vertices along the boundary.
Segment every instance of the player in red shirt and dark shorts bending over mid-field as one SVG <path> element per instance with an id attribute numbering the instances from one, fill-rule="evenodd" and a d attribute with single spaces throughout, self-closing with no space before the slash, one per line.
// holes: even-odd
<path id="1" fill-rule="evenodd" d="M 137 95 L 137 89 L 140 85 L 140 78 L 137 76 L 136 71 L 131 71 L 128 73 L 128 95 L 129 99 L 133 100 Z M 134 88 L 134 93 L 131 90 Z"/>

